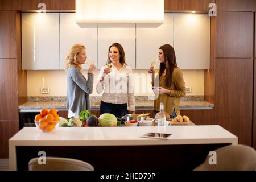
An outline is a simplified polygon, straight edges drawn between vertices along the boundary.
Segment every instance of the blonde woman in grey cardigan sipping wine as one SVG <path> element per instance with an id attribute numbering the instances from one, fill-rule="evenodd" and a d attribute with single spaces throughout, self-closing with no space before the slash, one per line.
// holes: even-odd
<path id="1" fill-rule="evenodd" d="M 93 71 L 96 66 L 90 65 L 86 80 L 82 75 L 81 67 L 86 58 L 85 46 L 81 44 L 74 44 L 65 58 L 68 117 L 79 115 L 81 111 L 86 109 L 90 110 L 89 94 L 93 91 Z"/>

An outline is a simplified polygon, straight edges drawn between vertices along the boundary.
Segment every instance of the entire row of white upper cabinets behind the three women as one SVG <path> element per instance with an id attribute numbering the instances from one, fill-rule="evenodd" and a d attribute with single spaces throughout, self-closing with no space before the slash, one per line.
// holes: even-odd
<path id="1" fill-rule="evenodd" d="M 148 69 L 159 47 L 170 44 L 181 69 L 210 68 L 210 18 L 208 14 L 164 15 L 164 23 L 148 27 L 141 23 L 98 23 L 80 27 L 75 13 L 23 13 L 23 69 L 64 69 L 73 44 L 84 44 L 86 55 L 100 69 L 108 59 L 109 46 L 120 43 L 126 63 Z M 88 65 L 82 65 L 88 69 Z M 156 69 L 159 68 L 159 64 Z"/>

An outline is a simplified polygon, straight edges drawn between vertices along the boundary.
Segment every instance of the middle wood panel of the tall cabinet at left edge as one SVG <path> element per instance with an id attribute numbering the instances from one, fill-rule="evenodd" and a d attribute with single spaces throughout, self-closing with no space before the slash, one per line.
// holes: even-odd
<path id="1" fill-rule="evenodd" d="M 0 59 L 0 120 L 18 117 L 17 59 Z"/>

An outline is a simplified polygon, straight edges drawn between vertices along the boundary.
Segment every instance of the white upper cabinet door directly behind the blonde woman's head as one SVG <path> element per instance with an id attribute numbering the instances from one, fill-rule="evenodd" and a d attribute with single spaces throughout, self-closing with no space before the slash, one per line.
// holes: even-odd
<path id="1" fill-rule="evenodd" d="M 64 61 L 73 44 L 84 44 L 86 55 L 97 65 L 97 24 L 81 28 L 76 23 L 75 13 L 60 13 L 60 69 L 65 69 Z M 82 69 L 88 69 L 87 64 Z"/>

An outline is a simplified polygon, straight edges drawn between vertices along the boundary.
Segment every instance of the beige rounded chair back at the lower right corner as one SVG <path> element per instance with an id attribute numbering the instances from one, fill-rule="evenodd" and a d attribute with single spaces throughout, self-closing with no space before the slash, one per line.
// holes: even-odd
<path id="1" fill-rule="evenodd" d="M 207 156 L 204 163 L 194 171 L 255 171 L 256 151 L 241 144 L 218 148 L 216 152 L 217 164 L 209 164 Z"/>

